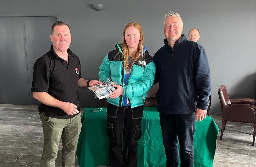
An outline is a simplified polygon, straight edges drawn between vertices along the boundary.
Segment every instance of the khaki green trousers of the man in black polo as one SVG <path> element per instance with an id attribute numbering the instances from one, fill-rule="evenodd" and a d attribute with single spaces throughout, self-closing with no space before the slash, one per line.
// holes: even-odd
<path id="1" fill-rule="evenodd" d="M 40 113 L 44 132 L 41 167 L 55 167 L 60 138 L 62 139 L 62 166 L 74 167 L 77 141 L 81 131 L 81 112 L 70 119 L 58 119 Z"/>

